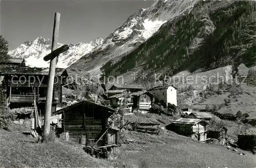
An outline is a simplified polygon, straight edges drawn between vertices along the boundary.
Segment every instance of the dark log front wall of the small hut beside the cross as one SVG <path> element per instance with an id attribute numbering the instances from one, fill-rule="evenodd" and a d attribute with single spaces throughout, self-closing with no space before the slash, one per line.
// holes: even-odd
<path id="1" fill-rule="evenodd" d="M 96 139 L 106 129 L 107 113 L 93 104 L 79 103 L 65 110 L 62 118 L 63 131 L 69 132 L 69 139 L 79 143 L 79 135 L 86 135 L 87 142 Z M 106 143 L 106 134 L 98 142 L 98 146 Z"/>

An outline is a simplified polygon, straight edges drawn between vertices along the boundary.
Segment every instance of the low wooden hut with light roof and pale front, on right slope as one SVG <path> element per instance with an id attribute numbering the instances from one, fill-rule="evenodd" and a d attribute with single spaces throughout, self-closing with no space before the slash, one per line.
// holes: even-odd
<path id="1" fill-rule="evenodd" d="M 207 137 L 207 125 L 209 123 L 204 119 L 180 118 L 166 126 L 166 129 L 180 135 L 195 137 L 200 141 L 204 141 Z"/>

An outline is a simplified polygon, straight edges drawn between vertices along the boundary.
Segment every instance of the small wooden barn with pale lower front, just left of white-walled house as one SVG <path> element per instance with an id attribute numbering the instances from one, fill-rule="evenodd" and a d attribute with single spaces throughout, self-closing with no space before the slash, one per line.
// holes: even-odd
<path id="1" fill-rule="evenodd" d="M 154 95 L 148 91 L 138 91 L 132 93 L 133 109 L 151 110 Z"/>

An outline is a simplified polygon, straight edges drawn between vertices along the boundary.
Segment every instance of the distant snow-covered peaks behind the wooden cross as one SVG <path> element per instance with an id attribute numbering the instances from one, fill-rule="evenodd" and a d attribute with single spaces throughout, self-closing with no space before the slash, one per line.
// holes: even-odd
<path id="1" fill-rule="evenodd" d="M 96 50 L 103 41 L 102 38 L 97 38 L 90 43 L 69 44 L 69 50 L 60 54 L 57 67 L 68 67 L 82 56 Z M 62 45 L 58 43 L 58 47 Z M 33 41 L 24 42 L 15 50 L 9 51 L 9 55 L 16 58 L 25 58 L 29 66 L 49 67 L 50 62 L 44 61 L 43 58 L 51 52 L 51 46 L 52 41 L 50 39 L 38 37 Z"/>

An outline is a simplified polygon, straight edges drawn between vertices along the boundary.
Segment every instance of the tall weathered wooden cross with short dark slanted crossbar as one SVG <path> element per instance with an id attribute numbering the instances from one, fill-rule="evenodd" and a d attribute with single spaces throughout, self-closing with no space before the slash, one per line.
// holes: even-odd
<path id="1" fill-rule="evenodd" d="M 52 52 L 44 57 L 45 61 L 50 60 L 50 69 L 49 69 L 49 78 L 48 78 L 48 85 L 47 85 L 43 138 L 45 138 L 50 132 L 50 118 L 51 118 L 51 109 L 52 109 L 53 84 L 54 84 L 54 76 L 55 76 L 56 59 L 59 54 L 69 50 L 68 45 L 63 45 L 58 49 L 56 49 L 58 44 L 58 35 L 59 35 L 59 20 L 60 20 L 60 13 L 55 13 L 53 36 L 52 36 Z"/>

